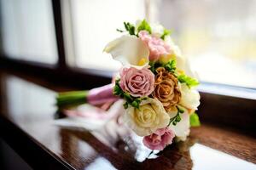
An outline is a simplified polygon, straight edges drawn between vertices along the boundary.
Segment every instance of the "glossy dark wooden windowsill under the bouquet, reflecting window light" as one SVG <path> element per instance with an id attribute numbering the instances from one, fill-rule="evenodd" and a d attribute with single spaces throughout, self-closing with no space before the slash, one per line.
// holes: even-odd
<path id="1" fill-rule="evenodd" d="M 202 122 L 187 141 L 149 157 L 115 119 L 90 120 L 90 130 L 57 126 L 55 91 L 66 88 L 31 81 L 1 74 L 0 135 L 33 168 L 256 169 L 255 137 L 218 123 Z"/>

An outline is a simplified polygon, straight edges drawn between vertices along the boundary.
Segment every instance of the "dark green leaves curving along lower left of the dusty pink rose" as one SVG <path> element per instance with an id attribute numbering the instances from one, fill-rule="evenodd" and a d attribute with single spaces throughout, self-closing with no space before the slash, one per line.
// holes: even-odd
<path id="1" fill-rule="evenodd" d="M 124 92 L 122 90 L 122 88 L 120 88 L 119 82 L 120 82 L 120 79 L 117 79 L 115 81 L 115 86 L 113 88 L 113 94 L 119 96 L 122 99 L 125 99 L 125 104 L 124 104 L 125 109 L 127 109 L 129 105 L 139 109 L 141 102 L 147 98 L 146 97 L 145 98 L 136 98 L 136 97 L 131 96 L 131 94 Z"/>

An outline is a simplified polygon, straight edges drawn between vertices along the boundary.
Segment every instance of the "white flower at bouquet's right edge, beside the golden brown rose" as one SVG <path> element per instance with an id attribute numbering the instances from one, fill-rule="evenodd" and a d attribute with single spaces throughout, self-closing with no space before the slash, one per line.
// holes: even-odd
<path id="1" fill-rule="evenodd" d="M 180 105 L 191 109 L 197 110 L 198 105 L 200 105 L 200 94 L 197 90 L 189 88 L 185 83 L 181 83 L 181 99 Z"/>

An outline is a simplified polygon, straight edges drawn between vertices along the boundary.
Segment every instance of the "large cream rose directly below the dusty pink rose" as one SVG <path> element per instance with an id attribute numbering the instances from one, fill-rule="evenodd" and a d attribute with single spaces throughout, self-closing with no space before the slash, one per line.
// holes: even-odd
<path id="1" fill-rule="evenodd" d="M 143 100 L 139 109 L 129 106 L 125 110 L 125 122 L 139 136 L 148 136 L 158 128 L 164 128 L 170 121 L 158 99 Z"/>

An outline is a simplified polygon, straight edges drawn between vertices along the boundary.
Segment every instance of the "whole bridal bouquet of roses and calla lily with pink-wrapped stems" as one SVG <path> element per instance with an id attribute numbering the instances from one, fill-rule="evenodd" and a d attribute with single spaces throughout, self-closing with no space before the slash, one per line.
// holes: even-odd
<path id="1" fill-rule="evenodd" d="M 60 109 L 89 103 L 111 104 L 124 100 L 124 122 L 151 150 L 163 150 L 185 140 L 189 127 L 199 126 L 195 111 L 200 94 L 186 59 L 172 42 L 171 31 L 146 20 L 125 22 L 122 36 L 109 42 L 104 52 L 122 63 L 115 82 L 89 91 L 59 94 Z"/>

